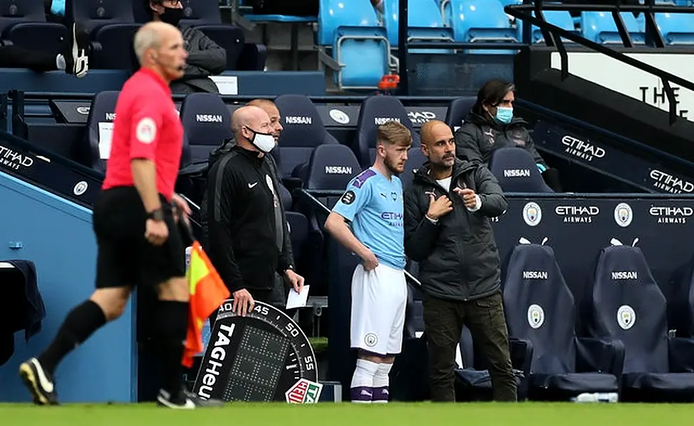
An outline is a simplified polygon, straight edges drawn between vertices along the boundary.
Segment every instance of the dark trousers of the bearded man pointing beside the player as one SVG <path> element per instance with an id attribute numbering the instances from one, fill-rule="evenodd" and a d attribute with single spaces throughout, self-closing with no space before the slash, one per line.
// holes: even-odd
<path id="1" fill-rule="evenodd" d="M 516 377 L 511 366 L 509 332 L 501 293 L 470 302 L 425 295 L 423 305 L 431 400 L 455 402 L 455 348 L 460 342 L 462 327 L 466 325 L 475 344 L 487 358 L 494 400 L 516 401 Z"/>

